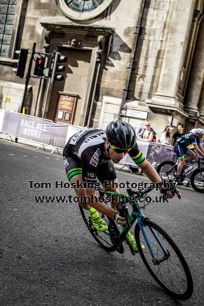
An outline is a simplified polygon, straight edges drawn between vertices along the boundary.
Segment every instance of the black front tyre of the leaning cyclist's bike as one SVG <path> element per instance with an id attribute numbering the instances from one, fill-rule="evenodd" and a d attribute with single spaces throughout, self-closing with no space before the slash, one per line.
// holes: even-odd
<path id="1" fill-rule="evenodd" d="M 156 223 L 150 221 L 150 220 L 145 220 L 143 221 L 143 226 L 148 226 L 148 227 L 152 227 L 154 228 L 155 231 L 157 231 L 161 237 L 163 237 L 167 242 L 168 244 L 171 246 L 171 248 L 173 249 L 173 251 L 175 252 L 177 258 L 176 259 L 179 259 L 179 262 L 180 264 L 182 265 L 182 271 L 183 273 L 185 273 L 185 277 L 186 277 L 186 290 L 185 292 L 182 292 L 182 293 L 175 293 L 173 291 L 171 291 L 168 287 L 166 287 L 162 281 L 163 281 L 163 278 L 162 278 L 162 281 L 161 279 L 159 279 L 159 277 L 157 276 L 157 274 L 159 273 L 155 273 L 153 268 L 158 266 L 159 265 L 154 265 L 151 260 L 149 260 L 149 263 L 145 257 L 145 253 L 147 254 L 146 256 L 149 256 L 150 254 L 150 251 L 146 245 L 146 242 L 145 242 L 145 248 L 144 250 L 142 250 L 141 248 L 141 245 L 140 243 L 142 242 L 144 244 L 144 239 L 140 239 L 140 237 L 143 238 L 143 235 L 142 235 L 142 232 L 140 230 L 140 227 L 138 225 L 138 223 L 136 224 L 135 226 L 135 238 L 136 238 L 136 243 L 137 243 L 137 247 L 138 247 L 138 250 L 139 250 L 139 253 L 140 253 L 140 256 L 146 266 L 146 268 L 148 269 L 149 273 L 152 275 L 152 277 L 154 277 L 155 281 L 162 287 L 162 289 L 167 293 L 169 294 L 171 297 L 175 298 L 175 299 L 180 299 L 180 300 L 187 300 L 191 297 L 191 295 L 193 294 L 193 280 L 192 280 L 192 276 L 191 276 L 191 272 L 190 272 L 190 269 L 188 267 L 188 264 L 182 254 L 182 252 L 180 251 L 180 249 L 177 247 L 177 245 L 174 243 L 174 241 L 170 238 L 170 236 L 159 226 L 157 225 Z M 146 231 L 145 231 L 146 232 Z M 152 233 L 151 233 L 152 234 Z M 152 238 L 154 239 L 154 243 L 152 243 L 153 247 L 155 247 L 155 243 L 158 244 L 156 238 L 152 235 Z M 161 246 L 159 246 L 161 248 Z M 158 252 L 161 252 L 161 250 L 159 250 Z M 172 252 L 172 256 L 173 256 L 173 252 Z M 151 257 L 151 255 L 150 255 Z M 169 257 L 170 258 L 170 257 Z M 170 263 L 171 263 L 171 260 L 169 262 L 169 264 L 167 263 L 167 266 L 169 265 L 170 266 Z M 150 265 L 151 264 L 151 265 Z M 164 262 L 162 262 L 162 265 L 164 264 Z M 163 266 L 160 266 L 160 268 L 158 269 L 162 269 Z M 164 268 L 165 269 L 165 268 Z M 161 272 L 160 272 L 161 273 Z M 166 273 L 166 271 L 165 271 Z M 174 273 L 174 272 L 173 272 Z M 176 273 L 175 273 L 176 274 Z M 165 275 L 165 274 L 164 274 Z M 159 274 L 160 276 L 160 274 Z M 165 275 L 166 277 L 166 275 Z M 177 279 L 176 279 L 177 281 Z M 183 279 L 182 279 L 183 281 Z M 182 282 L 181 282 L 182 283 Z M 182 286 L 182 285 L 181 285 Z"/>

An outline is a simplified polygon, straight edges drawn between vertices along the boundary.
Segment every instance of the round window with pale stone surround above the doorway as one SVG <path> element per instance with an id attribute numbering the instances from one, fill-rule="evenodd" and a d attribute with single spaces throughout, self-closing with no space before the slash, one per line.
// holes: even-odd
<path id="1" fill-rule="evenodd" d="M 113 0 L 56 0 L 60 10 L 70 19 L 91 19 L 105 11 Z"/>

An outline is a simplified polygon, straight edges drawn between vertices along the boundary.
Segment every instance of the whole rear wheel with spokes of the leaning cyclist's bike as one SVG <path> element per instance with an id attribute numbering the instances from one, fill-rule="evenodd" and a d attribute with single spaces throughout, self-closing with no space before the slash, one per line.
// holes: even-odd
<path id="1" fill-rule="evenodd" d="M 119 234 L 119 230 L 114 220 L 109 219 L 107 216 L 99 213 L 101 218 L 108 224 L 109 228 L 105 232 L 97 231 L 95 227 L 93 226 L 93 223 L 91 221 L 91 218 L 87 210 L 83 209 L 80 205 L 79 205 L 79 208 L 80 208 L 80 212 L 82 214 L 83 220 L 86 226 L 88 227 L 89 232 L 91 233 L 93 238 L 97 241 L 97 243 L 109 252 L 113 252 L 117 250 L 119 253 L 123 253 L 124 249 L 123 249 L 122 244 L 119 244 L 117 246 L 115 246 L 114 244 L 113 236 L 117 236 Z"/>

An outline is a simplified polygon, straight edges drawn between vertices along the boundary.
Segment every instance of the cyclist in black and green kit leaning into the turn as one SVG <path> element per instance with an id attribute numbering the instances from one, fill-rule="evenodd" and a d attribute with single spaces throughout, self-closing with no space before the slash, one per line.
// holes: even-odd
<path id="1" fill-rule="evenodd" d="M 117 183 L 114 163 L 118 164 L 126 154 L 130 155 L 152 182 L 162 181 L 155 168 L 150 165 L 139 150 L 135 130 L 130 124 L 116 120 L 107 126 L 106 132 L 85 127 L 73 135 L 65 145 L 63 160 L 69 182 L 83 183 L 83 188 L 74 189 L 77 196 L 91 198 L 91 195 L 94 195 L 96 198 L 94 185 L 97 179 L 102 185 L 105 181 L 111 181 L 112 184 L 107 190 L 118 192 L 114 186 L 114 183 Z M 167 191 L 167 195 L 173 197 L 170 191 Z M 87 209 L 97 231 L 108 229 L 108 225 L 101 219 L 98 212 L 115 219 L 120 225 L 126 223 L 125 218 L 117 212 L 117 203 L 112 203 L 112 208 L 97 199 L 79 204 Z M 137 251 L 134 235 L 129 232 L 127 237 L 133 249 Z"/>

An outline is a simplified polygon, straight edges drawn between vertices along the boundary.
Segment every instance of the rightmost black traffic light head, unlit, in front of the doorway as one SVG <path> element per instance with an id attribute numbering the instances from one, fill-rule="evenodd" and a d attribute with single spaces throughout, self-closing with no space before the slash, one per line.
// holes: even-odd
<path id="1" fill-rule="evenodd" d="M 66 66 L 61 65 L 61 63 L 65 63 L 65 62 L 67 62 L 67 57 L 60 54 L 59 52 L 56 52 L 54 64 L 53 64 L 51 83 L 60 82 L 64 80 L 64 75 L 59 74 L 59 73 L 66 70 Z"/>

